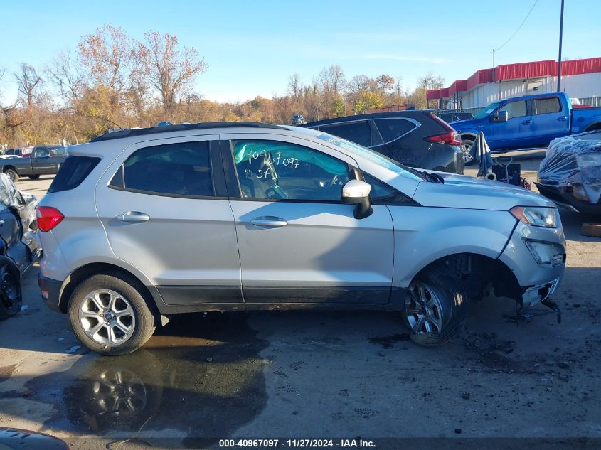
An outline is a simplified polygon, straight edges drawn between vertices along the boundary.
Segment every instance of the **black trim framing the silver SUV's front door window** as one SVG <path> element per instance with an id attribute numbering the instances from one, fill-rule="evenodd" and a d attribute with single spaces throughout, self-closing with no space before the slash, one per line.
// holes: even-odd
<path id="1" fill-rule="evenodd" d="M 286 136 L 281 136 L 286 137 Z M 260 138 L 245 138 L 248 140 L 255 141 L 274 141 L 274 142 L 285 142 L 277 139 L 260 139 Z M 274 202 L 286 202 L 286 203 L 327 203 L 330 205 L 344 205 L 342 203 L 342 198 L 340 200 L 302 200 L 295 198 L 250 198 L 242 196 L 242 188 L 240 188 L 240 180 L 238 179 L 238 169 L 234 164 L 234 150 L 233 150 L 233 141 L 238 139 L 223 139 L 223 145 L 221 147 L 221 157 L 223 161 L 223 168 L 225 170 L 225 178 L 228 181 L 228 199 L 235 201 L 252 201 L 252 202 L 263 202 L 263 203 L 274 203 Z M 294 144 L 298 146 L 302 146 L 301 144 L 296 144 L 294 142 L 289 142 L 288 144 Z M 311 149 L 314 151 L 319 151 L 312 147 L 306 146 L 307 149 Z M 337 159 L 341 161 L 341 163 L 346 164 L 349 170 L 349 179 L 359 179 L 357 178 L 357 173 L 359 173 L 358 168 L 354 167 L 352 164 L 347 163 L 346 161 L 342 161 L 341 159 L 336 158 L 336 156 L 332 156 L 324 153 L 323 151 L 319 151 L 326 156 Z M 350 178 L 350 176 L 354 176 L 355 178 Z"/>

